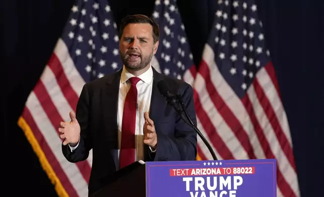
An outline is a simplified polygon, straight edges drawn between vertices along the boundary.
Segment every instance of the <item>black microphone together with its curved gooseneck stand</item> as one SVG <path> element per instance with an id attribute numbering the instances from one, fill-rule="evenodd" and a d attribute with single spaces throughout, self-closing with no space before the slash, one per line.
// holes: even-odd
<path id="1" fill-rule="evenodd" d="M 182 120 L 184 120 L 190 127 L 192 127 L 196 131 L 196 133 L 199 135 L 199 137 L 202 139 L 202 141 L 207 146 L 207 148 L 208 148 L 210 154 L 212 155 L 213 159 L 218 160 L 214 150 L 211 148 L 211 146 L 208 143 L 208 141 L 206 140 L 206 138 L 202 135 L 202 133 L 199 131 L 199 129 L 192 122 L 192 120 L 191 120 L 191 118 L 190 118 L 190 116 L 189 116 L 189 114 L 188 114 L 188 112 L 186 110 L 186 107 L 185 107 L 182 96 L 180 94 L 177 94 L 177 95 L 173 94 L 169 90 L 169 86 L 164 80 L 160 80 L 160 81 L 157 82 L 157 88 L 160 91 L 160 93 L 164 97 L 166 97 L 167 103 L 170 106 L 172 106 L 178 112 L 178 114 L 180 115 Z M 185 90 L 184 93 L 186 93 L 186 91 L 187 91 L 187 89 Z M 178 103 L 180 103 L 182 109 L 179 108 Z"/>

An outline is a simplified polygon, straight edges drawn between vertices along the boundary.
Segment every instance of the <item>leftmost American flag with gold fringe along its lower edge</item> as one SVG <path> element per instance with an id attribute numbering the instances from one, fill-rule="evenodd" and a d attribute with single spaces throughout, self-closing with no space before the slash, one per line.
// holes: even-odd
<path id="1" fill-rule="evenodd" d="M 117 26 L 105 0 L 78 0 L 19 120 L 59 196 L 88 196 L 92 151 L 68 162 L 61 150 L 60 121 L 70 121 L 83 85 L 122 67 Z"/>

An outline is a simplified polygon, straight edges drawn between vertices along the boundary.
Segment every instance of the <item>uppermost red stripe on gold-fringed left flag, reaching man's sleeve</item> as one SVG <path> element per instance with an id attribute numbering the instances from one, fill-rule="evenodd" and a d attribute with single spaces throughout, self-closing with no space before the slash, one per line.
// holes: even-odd
<path id="1" fill-rule="evenodd" d="M 78 101 L 78 96 L 74 89 L 72 88 L 69 80 L 67 79 L 62 64 L 55 55 L 55 53 L 52 53 L 49 61 L 48 61 L 48 66 L 52 70 L 53 74 L 55 75 L 57 84 L 60 86 L 60 89 L 70 105 L 71 109 L 75 111 L 76 109 L 76 104 Z"/>

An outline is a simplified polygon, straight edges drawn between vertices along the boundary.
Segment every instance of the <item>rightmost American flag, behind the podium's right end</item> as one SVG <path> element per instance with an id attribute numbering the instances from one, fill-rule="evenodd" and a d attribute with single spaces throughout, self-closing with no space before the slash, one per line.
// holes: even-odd
<path id="1" fill-rule="evenodd" d="M 288 121 L 258 6 L 253 0 L 217 3 L 193 84 L 198 128 L 219 159 L 277 159 L 277 196 L 300 196 Z M 201 159 L 212 159 L 201 140 L 198 145 Z"/>

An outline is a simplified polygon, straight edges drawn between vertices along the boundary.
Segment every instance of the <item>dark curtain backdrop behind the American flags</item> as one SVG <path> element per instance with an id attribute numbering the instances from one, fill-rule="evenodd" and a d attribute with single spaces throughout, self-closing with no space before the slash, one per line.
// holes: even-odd
<path id="1" fill-rule="evenodd" d="M 212 26 L 216 0 L 178 0 L 196 64 Z M 324 1 L 258 0 L 292 133 L 302 197 L 322 196 L 324 180 Z M 73 2 L 1 1 L 2 193 L 56 196 L 17 126 Z M 153 0 L 110 1 L 119 24 L 126 14 L 151 15 Z"/>

